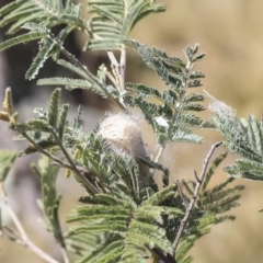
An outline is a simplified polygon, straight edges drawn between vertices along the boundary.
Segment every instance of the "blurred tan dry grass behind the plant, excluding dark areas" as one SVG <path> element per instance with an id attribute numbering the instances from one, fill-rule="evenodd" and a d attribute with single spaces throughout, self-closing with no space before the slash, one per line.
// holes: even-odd
<path id="1" fill-rule="evenodd" d="M 188 44 L 199 43 L 201 50 L 207 53 L 207 58 L 196 67 L 206 75 L 203 81 L 204 89 L 237 108 L 240 117 L 245 117 L 252 112 L 258 118 L 262 116 L 263 2 L 260 0 L 163 2 L 167 2 L 168 11 L 146 19 L 134 30 L 132 37 L 176 56 L 183 56 L 182 49 Z M 144 67 L 132 50 L 128 59 L 132 61 L 128 62 L 128 68 L 135 71 L 132 72 L 135 81 L 164 88 L 158 77 Z M 149 136 L 152 134 L 147 125 L 144 127 L 144 135 L 145 137 L 147 135 L 149 151 L 155 153 L 155 140 Z M 194 170 L 201 171 L 202 158 L 210 145 L 220 139 L 214 133 L 204 135 L 207 139 L 203 146 L 168 147 L 162 161 L 171 168 L 172 179 L 193 178 Z M 232 161 L 233 157 L 229 155 L 224 164 Z M 227 174 L 219 169 L 214 183 L 222 182 L 226 176 Z M 72 201 L 78 198 L 80 188 L 73 181 L 66 181 L 64 176 L 59 181 L 59 190 L 66 195 L 61 207 L 61 215 L 65 216 L 76 205 Z M 233 210 L 237 220 L 214 227 L 209 235 L 196 242 L 191 251 L 195 263 L 263 262 L 261 231 L 263 215 L 258 213 L 263 207 L 263 186 L 242 180 L 237 180 L 237 183 L 247 186 L 240 202 L 241 206 Z M 21 216 L 33 240 L 45 250 L 58 254 L 45 231 L 32 225 L 35 215 L 26 214 Z M 43 262 L 30 251 L 3 239 L 0 239 L 0 248 L 2 263 Z"/>

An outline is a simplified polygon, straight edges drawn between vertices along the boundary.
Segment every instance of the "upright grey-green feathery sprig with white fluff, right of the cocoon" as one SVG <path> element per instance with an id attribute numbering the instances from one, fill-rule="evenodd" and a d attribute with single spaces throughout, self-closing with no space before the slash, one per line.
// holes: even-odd
<path id="1" fill-rule="evenodd" d="M 146 65 L 153 69 L 165 82 L 169 89 L 159 91 L 145 84 L 127 83 L 127 90 L 136 92 L 135 95 L 125 95 L 124 101 L 130 106 L 141 110 L 145 118 L 152 126 L 160 145 L 168 141 L 188 141 L 201 144 L 203 138 L 194 134 L 191 128 L 213 128 L 209 122 L 204 122 L 193 112 L 204 111 L 199 104 L 205 100 L 203 94 L 186 93 L 187 89 L 201 87 L 199 71 L 192 71 L 194 64 L 205 57 L 205 54 L 196 55 L 198 46 L 188 46 L 185 49 L 187 61 L 178 57 L 169 57 L 164 52 L 152 50 L 135 41 L 125 41 L 125 44 L 137 49 Z M 149 102 L 156 98 L 161 105 Z M 159 103 L 160 104 L 160 103 Z"/>

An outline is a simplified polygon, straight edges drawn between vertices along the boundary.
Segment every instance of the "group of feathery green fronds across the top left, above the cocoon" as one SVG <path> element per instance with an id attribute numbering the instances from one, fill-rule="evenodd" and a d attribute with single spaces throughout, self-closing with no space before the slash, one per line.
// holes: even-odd
<path id="1" fill-rule="evenodd" d="M 121 49 L 124 47 L 122 41 L 127 38 L 128 33 L 138 21 L 149 13 L 165 10 L 163 4 L 149 0 L 122 0 L 118 2 L 92 0 L 89 1 L 89 7 L 92 15 L 87 21 L 81 18 L 81 4 L 76 4 L 71 0 L 16 0 L 4 5 L 0 9 L 0 26 L 10 25 L 8 34 L 14 34 L 22 28 L 28 30 L 30 33 L 1 43 L 0 52 L 21 43 L 41 39 L 39 52 L 25 75 L 26 79 L 34 79 L 46 59 L 53 57 L 57 60 L 60 52 L 64 52 L 83 77 L 83 72 L 80 72 L 81 69 L 82 71 L 88 71 L 88 69 L 62 47 L 64 41 L 72 30 L 80 28 L 85 34 L 90 34 L 91 41 L 87 44 L 85 49 Z M 65 25 L 65 27 L 54 36 L 50 30 L 59 24 Z M 62 65 L 65 66 L 65 64 Z M 104 96 L 107 93 L 108 96 L 111 92 L 106 89 L 111 89 L 111 87 L 102 87 L 100 81 L 94 81 L 94 79 L 90 81 L 92 75 L 89 71 L 88 76 L 89 78 L 84 78 L 84 81 L 50 79 L 48 83 L 59 82 L 59 84 L 67 87 L 85 89 L 96 84 L 93 89 L 98 93 L 103 93 Z"/>

